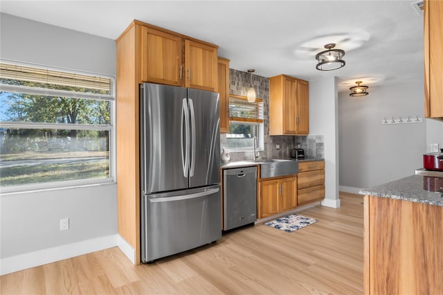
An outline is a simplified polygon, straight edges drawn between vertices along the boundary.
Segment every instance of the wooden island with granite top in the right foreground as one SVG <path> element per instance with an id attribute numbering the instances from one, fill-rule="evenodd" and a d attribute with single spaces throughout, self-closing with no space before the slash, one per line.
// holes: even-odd
<path id="1" fill-rule="evenodd" d="M 441 184 L 413 175 L 360 192 L 365 294 L 443 294 Z"/>

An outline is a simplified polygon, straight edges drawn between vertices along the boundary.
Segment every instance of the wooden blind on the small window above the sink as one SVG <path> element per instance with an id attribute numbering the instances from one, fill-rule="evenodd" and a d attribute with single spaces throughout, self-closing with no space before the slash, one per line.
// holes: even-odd
<path id="1" fill-rule="evenodd" d="M 238 122 L 263 123 L 263 100 L 256 98 L 248 102 L 246 96 L 229 96 L 229 120 Z"/>

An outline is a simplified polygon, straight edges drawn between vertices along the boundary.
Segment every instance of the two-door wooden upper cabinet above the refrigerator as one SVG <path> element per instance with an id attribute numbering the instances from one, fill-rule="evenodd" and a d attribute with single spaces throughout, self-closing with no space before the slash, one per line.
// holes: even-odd
<path id="1" fill-rule="evenodd" d="M 218 90 L 218 46 L 141 21 L 134 21 L 129 27 L 136 28 L 132 46 L 138 82 Z M 117 39 L 117 43 L 127 31 Z"/>

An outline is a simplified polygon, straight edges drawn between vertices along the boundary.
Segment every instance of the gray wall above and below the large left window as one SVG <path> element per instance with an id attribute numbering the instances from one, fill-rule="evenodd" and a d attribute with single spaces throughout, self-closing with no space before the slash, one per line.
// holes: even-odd
<path id="1" fill-rule="evenodd" d="M 116 75 L 114 40 L 1 14 L 0 58 Z M 8 258 L 117 234 L 116 184 L 1 195 L 1 253 Z M 60 231 L 60 218 L 71 229 Z"/>

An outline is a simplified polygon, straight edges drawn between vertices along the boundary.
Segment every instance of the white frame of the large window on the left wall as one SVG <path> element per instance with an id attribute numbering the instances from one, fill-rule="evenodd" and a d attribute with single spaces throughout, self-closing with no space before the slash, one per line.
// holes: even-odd
<path id="1" fill-rule="evenodd" d="M 100 73 L 91 73 L 86 71 L 73 71 L 70 69 L 57 68 L 53 66 L 42 66 L 38 64 L 29 64 L 12 60 L 2 60 L 1 64 L 14 64 L 17 66 L 26 66 L 34 69 L 42 69 L 48 71 L 60 71 L 63 73 L 89 75 L 99 78 L 109 79 L 111 82 L 109 94 L 83 93 L 66 90 L 54 90 L 38 87 L 26 87 L 18 85 L 0 84 L 0 91 L 27 93 L 44 96 L 64 96 L 67 98 L 84 98 L 91 100 L 105 100 L 109 102 L 109 124 L 70 124 L 70 123 L 33 123 L 24 121 L 5 121 L 0 122 L 0 127 L 17 128 L 17 129 L 75 129 L 75 130 L 96 130 L 109 132 L 109 176 L 103 178 L 87 178 L 62 181 L 37 182 L 33 184 L 21 184 L 16 186 L 1 186 L 0 193 L 2 195 L 10 195 L 17 193 L 28 193 L 35 191 L 57 190 L 65 188 L 75 188 L 82 186 L 97 186 L 102 184 L 116 183 L 116 77 L 114 75 L 105 75 Z"/>

